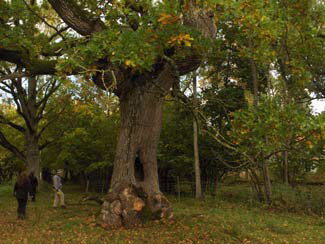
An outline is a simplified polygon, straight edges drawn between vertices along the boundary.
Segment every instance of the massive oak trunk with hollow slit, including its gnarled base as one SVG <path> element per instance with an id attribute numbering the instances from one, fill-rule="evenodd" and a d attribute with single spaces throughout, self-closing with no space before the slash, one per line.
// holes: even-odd
<path id="1" fill-rule="evenodd" d="M 170 87 L 171 77 L 164 79 L 164 85 Z M 151 81 L 142 84 L 120 95 L 121 125 L 111 187 L 97 219 L 104 228 L 135 226 L 141 223 L 144 212 L 151 212 L 153 218 L 172 216 L 158 181 L 156 152 L 162 122 L 162 87 Z M 142 165 L 143 179 L 136 177 L 136 157 Z"/>

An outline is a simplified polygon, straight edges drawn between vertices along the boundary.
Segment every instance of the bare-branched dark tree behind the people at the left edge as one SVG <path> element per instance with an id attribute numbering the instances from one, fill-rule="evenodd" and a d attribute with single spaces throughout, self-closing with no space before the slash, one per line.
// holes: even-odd
<path id="1" fill-rule="evenodd" d="M 7 71 L 10 72 L 9 69 Z M 2 70 L 2 73 L 5 71 Z M 22 78 L 3 80 L 0 83 L 0 90 L 12 97 L 17 114 L 22 118 L 23 124 L 15 123 L 5 114 L 0 115 L 0 123 L 22 133 L 25 140 L 25 145 L 20 148 L 19 145 L 10 142 L 6 135 L 0 131 L 0 145 L 22 160 L 27 171 L 34 171 L 37 177 L 40 173 L 40 150 L 47 145 L 40 144 L 40 137 L 48 126 L 48 123 L 44 122 L 44 118 L 48 116 L 45 113 L 45 108 L 50 96 L 58 87 L 57 80 L 37 81 L 33 77 L 27 80 Z"/>

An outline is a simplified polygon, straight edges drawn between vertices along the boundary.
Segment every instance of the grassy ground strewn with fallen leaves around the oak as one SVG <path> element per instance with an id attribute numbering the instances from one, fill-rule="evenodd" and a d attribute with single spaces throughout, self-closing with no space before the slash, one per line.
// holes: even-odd
<path id="1" fill-rule="evenodd" d="M 53 193 L 43 188 L 37 202 L 28 203 L 27 220 L 18 220 L 12 187 L 0 186 L 0 243 L 325 243 L 320 216 L 212 198 L 171 197 L 174 219 L 106 231 L 95 225 L 100 207 L 79 204 L 77 187 L 65 188 L 67 209 L 52 208 Z"/>

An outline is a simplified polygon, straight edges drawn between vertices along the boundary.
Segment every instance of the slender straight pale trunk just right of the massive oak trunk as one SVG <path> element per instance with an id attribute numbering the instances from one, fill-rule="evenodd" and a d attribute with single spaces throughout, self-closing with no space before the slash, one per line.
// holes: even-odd
<path id="1" fill-rule="evenodd" d="M 197 87 L 196 75 L 193 78 L 193 147 L 194 147 L 194 172 L 195 172 L 195 197 L 202 197 L 201 186 L 201 172 L 200 172 L 200 158 L 199 158 L 199 145 L 198 145 L 198 124 L 197 124 Z"/>

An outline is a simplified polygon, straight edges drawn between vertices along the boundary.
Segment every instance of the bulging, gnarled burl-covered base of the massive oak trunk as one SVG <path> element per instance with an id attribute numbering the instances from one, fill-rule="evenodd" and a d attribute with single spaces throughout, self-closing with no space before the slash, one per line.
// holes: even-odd
<path id="1" fill-rule="evenodd" d="M 172 217 L 171 204 L 161 192 L 148 195 L 141 188 L 120 182 L 107 194 L 97 223 L 105 229 L 132 228 L 147 219 Z"/>

